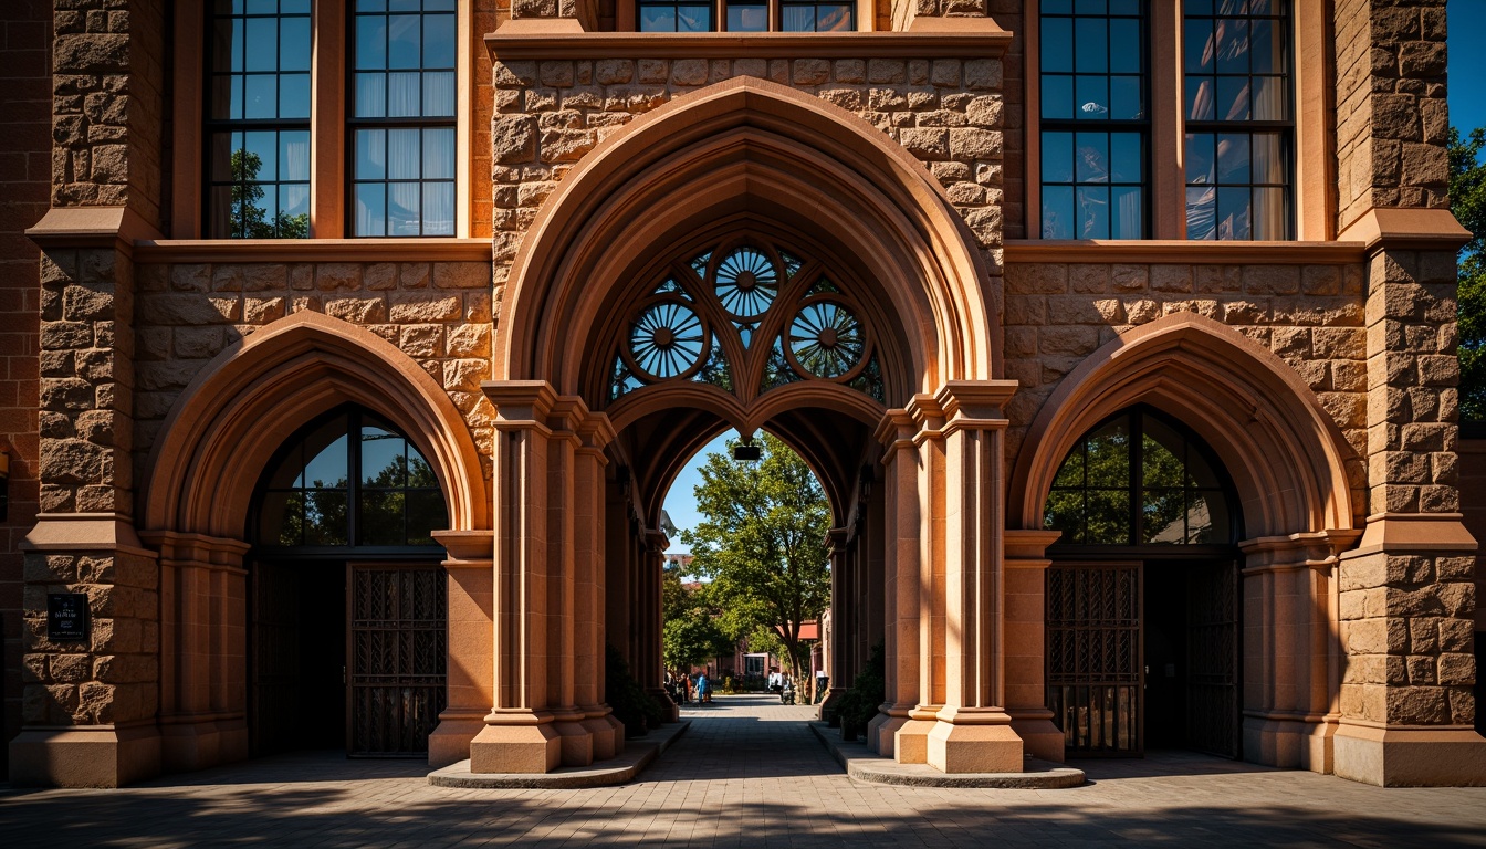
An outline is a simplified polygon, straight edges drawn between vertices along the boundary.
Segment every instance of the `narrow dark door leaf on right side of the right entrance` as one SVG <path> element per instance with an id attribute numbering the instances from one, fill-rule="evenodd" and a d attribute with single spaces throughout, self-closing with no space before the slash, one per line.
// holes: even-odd
<path id="1" fill-rule="evenodd" d="M 1236 758 L 1238 565 L 1187 572 L 1187 745 Z"/>

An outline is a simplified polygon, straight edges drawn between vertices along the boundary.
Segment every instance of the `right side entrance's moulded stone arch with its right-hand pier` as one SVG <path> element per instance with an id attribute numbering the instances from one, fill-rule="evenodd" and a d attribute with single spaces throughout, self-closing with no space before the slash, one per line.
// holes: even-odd
<path id="1" fill-rule="evenodd" d="M 1192 428 L 1236 488 L 1245 523 L 1242 757 L 1330 772 L 1343 665 L 1339 556 L 1363 534 L 1351 483 L 1361 474 L 1349 473 L 1360 459 L 1285 363 L 1230 327 L 1178 312 L 1109 342 L 1048 398 L 1010 479 L 1013 526 L 1042 529 L 1061 458 L 1132 404 Z M 1019 578 L 1024 592 L 1042 592 L 1040 574 Z"/>

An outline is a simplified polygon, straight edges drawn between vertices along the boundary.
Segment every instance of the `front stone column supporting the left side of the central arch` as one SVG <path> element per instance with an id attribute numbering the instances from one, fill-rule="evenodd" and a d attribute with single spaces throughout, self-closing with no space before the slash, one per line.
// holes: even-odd
<path id="1" fill-rule="evenodd" d="M 548 702 L 548 503 L 542 381 L 484 384 L 495 406 L 495 705 L 470 742 L 470 770 L 551 772 L 562 758 Z"/>

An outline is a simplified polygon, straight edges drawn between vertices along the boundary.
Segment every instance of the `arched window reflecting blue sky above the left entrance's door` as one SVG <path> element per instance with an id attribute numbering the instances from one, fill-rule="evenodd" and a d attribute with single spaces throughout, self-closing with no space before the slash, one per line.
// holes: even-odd
<path id="1" fill-rule="evenodd" d="M 432 467 L 389 422 L 343 409 L 303 428 L 260 485 L 263 547 L 432 546 L 449 510 Z"/>

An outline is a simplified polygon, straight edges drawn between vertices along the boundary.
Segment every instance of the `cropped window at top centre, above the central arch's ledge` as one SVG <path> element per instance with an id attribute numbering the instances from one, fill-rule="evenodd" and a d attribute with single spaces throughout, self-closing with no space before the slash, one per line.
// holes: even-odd
<path id="1" fill-rule="evenodd" d="M 853 3 L 816 0 L 639 0 L 642 33 L 828 33 L 856 28 Z"/>

